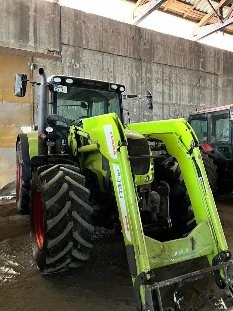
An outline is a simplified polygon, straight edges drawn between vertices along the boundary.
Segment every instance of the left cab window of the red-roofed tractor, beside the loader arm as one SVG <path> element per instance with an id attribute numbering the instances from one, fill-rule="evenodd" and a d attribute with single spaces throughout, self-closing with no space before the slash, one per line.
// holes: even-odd
<path id="1" fill-rule="evenodd" d="M 192 116 L 191 127 L 197 135 L 200 144 L 207 144 L 207 115 Z"/>

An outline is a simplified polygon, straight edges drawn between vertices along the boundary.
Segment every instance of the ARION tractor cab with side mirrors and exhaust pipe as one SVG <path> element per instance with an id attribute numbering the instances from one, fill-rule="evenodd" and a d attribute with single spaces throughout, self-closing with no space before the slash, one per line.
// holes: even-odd
<path id="1" fill-rule="evenodd" d="M 130 117 L 129 111 L 122 107 L 124 99 L 147 97 L 148 108 L 153 108 L 150 91 L 146 95 L 127 95 L 123 94 L 125 86 L 122 84 L 64 75 L 46 79 L 43 68 L 39 69 L 39 74 L 40 83 L 28 80 L 24 73 L 17 73 L 15 81 L 15 96 L 19 97 L 25 96 L 27 81 L 39 86 L 38 155 L 60 153 L 64 144 L 67 147 L 69 123 L 54 120 L 55 127 L 48 127 L 48 114 L 81 123 L 85 118 L 116 113 L 121 123 L 126 124 L 130 123 Z M 126 118 L 123 111 L 126 111 Z"/>

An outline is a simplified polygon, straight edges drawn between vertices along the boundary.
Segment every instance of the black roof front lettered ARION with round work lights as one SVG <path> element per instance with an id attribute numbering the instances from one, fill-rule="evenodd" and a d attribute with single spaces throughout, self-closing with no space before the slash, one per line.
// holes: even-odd
<path id="1" fill-rule="evenodd" d="M 53 81 L 55 77 L 59 77 L 62 79 L 61 82 L 57 83 Z M 74 80 L 73 83 L 66 83 L 66 79 L 72 79 Z M 115 82 L 108 82 L 108 81 L 101 81 L 101 80 L 95 80 L 95 79 L 89 79 L 89 78 L 80 78 L 80 77 L 72 77 L 72 76 L 62 76 L 62 75 L 53 75 L 47 78 L 47 83 L 56 83 L 56 84 L 62 84 L 65 86 L 83 86 L 83 87 L 95 87 L 95 88 L 101 88 L 101 89 L 109 89 L 111 91 L 119 91 L 120 87 L 125 86 L 123 84 L 115 83 Z M 111 89 L 110 86 L 115 84 L 117 86 L 117 89 Z M 121 92 L 121 91 L 120 91 Z"/>

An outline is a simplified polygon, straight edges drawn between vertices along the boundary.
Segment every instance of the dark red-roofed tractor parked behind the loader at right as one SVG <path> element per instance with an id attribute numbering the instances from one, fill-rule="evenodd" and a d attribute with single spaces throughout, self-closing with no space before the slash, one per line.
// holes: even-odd
<path id="1" fill-rule="evenodd" d="M 189 115 L 212 190 L 233 191 L 232 121 L 232 105 L 199 110 Z"/>

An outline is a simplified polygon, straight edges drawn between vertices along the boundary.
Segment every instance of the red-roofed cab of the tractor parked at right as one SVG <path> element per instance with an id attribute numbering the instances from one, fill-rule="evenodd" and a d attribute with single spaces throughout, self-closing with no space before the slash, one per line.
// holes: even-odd
<path id="1" fill-rule="evenodd" d="M 232 122 L 229 109 L 232 105 L 195 111 L 189 123 L 196 133 L 200 148 L 217 162 L 233 162 Z"/>

